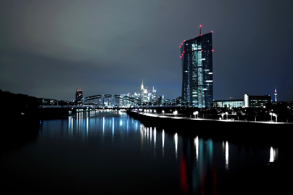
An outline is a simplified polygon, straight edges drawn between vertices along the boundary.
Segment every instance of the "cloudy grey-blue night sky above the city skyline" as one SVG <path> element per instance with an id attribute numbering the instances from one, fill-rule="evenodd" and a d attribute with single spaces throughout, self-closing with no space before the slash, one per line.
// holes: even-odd
<path id="1" fill-rule="evenodd" d="M 0 89 L 181 96 L 179 46 L 213 31 L 214 99 L 293 101 L 292 0 L 1 0 Z"/>

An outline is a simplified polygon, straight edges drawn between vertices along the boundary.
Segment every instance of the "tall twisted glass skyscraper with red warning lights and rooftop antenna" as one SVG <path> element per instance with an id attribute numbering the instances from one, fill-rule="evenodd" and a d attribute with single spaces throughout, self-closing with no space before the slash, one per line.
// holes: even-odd
<path id="1" fill-rule="evenodd" d="M 201 25 L 200 25 L 201 28 Z M 182 100 L 198 108 L 213 104 L 212 32 L 184 41 L 180 46 Z"/>

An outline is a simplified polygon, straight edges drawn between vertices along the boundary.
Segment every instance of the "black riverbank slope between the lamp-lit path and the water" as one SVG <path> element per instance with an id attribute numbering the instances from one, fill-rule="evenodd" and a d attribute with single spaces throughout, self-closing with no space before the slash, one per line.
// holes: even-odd
<path id="1" fill-rule="evenodd" d="M 188 136 L 200 136 L 235 142 L 286 144 L 290 141 L 292 124 L 244 121 L 202 120 L 127 112 L 145 126 Z"/>

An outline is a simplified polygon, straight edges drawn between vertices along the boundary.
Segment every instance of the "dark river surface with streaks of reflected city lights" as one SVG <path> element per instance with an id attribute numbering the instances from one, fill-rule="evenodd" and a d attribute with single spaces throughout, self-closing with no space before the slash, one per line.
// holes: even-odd
<path id="1" fill-rule="evenodd" d="M 264 172 L 253 171 L 255 165 L 268 166 L 287 155 L 274 146 L 183 137 L 145 127 L 120 111 L 42 120 L 38 128 L 36 138 L 1 154 L 2 189 L 33 194 L 244 194 L 283 188 L 275 181 L 265 184 L 267 180 L 258 179 Z"/>

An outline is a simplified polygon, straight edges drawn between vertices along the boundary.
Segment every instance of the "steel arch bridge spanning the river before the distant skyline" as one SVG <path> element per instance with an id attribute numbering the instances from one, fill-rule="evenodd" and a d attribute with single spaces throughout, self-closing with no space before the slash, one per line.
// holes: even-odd
<path id="1" fill-rule="evenodd" d="M 95 103 L 94 100 L 98 100 L 98 103 Z M 106 99 L 106 101 L 105 101 Z M 163 106 L 167 106 L 167 105 L 182 105 L 182 106 L 188 106 L 189 104 L 187 102 L 181 101 L 181 100 L 176 100 L 176 99 L 163 99 L 160 101 L 154 101 L 154 102 L 142 102 L 139 99 L 135 99 L 133 97 L 130 96 L 123 96 L 123 95 L 95 95 L 95 96 L 88 96 L 88 97 L 84 97 L 82 99 L 79 100 L 79 103 L 81 104 L 93 104 L 93 105 L 104 105 L 105 102 L 111 102 L 112 105 L 117 105 L 117 106 L 121 106 L 121 103 L 117 101 L 117 99 L 120 99 L 123 102 L 122 104 L 125 104 L 125 106 L 128 105 L 134 105 L 134 106 L 157 106 L 157 105 L 163 105 Z M 112 100 L 112 101 L 111 101 Z M 190 107 L 190 106 L 188 106 Z"/>

